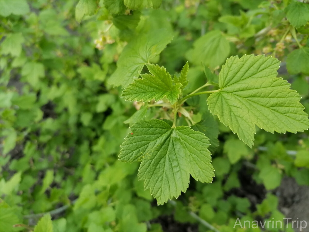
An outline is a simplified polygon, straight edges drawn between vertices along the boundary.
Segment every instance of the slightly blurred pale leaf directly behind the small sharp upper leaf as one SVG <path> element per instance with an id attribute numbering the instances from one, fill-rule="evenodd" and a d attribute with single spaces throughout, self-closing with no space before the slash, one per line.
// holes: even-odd
<path id="1" fill-rule="evenodd" d="M 157 29 L 136 37 L 123 49 L 117 69 L 108 84 L 123 87 L 138 78 L 144 65 L 156 57 L 171 42 L 173 36 L 166 29 Z"/>

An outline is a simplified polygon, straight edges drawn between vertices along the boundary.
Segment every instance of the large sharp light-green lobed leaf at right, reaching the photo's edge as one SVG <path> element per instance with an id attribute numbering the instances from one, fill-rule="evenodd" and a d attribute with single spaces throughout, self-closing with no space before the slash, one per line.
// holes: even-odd
<path id="1" fill-rule="evenodd" d="M 276 58 L 244 55 L 226 60 L 219 74 L 218 92 L 208 97 L 212 114 L 252 147 L 255 125 L 274 133 L 296 133 L 309 127 L 300 95 L 277 78 Z"/>

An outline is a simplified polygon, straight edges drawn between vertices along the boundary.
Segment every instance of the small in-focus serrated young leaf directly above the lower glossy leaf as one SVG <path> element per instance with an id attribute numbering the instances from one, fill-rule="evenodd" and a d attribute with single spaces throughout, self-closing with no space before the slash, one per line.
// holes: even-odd
<path id="1" fill-rule="evenodd" d="M 147 64 L 149 72 L 152 74 L 142 74 L 142 78 L 134 80 L 121 94 L 125 100 L 129 101 L 159 101 L 166 97 L 171 104 L 177 102 L 181 94 L 181 84 L 173 85 L 171 75 L 162 66 Z"/>

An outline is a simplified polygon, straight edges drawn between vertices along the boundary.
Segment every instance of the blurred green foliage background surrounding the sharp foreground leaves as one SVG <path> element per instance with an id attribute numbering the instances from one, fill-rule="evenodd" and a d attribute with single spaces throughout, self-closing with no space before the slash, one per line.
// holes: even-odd
<path id="1" fill-rule="evenodd" d="M 233 226 L 291 216 L 282 196 L 286 180 L 294 197 L 309 185 L 308 132 L 258 130 L 250 149 L 211 121 L 214 182 L 157 206 L 138 164 L 118 161 L 141 104 L 117 86 L 146 72 L 126 46 L 171 73 L 188 60 L 187 93 L 205 84 L 202 63 L 218 74 L 231 55 L 273 55 L 309 113 L 308 20 L 292 0 L 0 0 L 0 232 L 261 231 Z M 188 104 L 198 121 L 206 97 Z"/>

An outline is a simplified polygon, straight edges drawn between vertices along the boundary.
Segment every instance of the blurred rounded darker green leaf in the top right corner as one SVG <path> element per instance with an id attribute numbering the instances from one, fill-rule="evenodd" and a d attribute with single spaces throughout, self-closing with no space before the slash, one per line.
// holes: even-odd
<path id="1" fill-rule="evenodd" d="M 292 1 L 286 7 L 286 18 L 294 28 L 299 28 L 309 21 L 309 4 Z"/>

